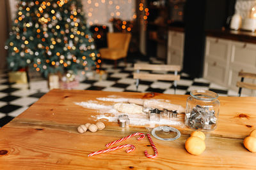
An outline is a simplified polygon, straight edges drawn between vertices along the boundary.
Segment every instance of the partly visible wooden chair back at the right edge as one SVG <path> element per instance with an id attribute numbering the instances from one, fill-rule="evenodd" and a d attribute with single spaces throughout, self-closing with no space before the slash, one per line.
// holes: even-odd
<path id="1" fill-rule="evenodd" d="M 239 97 L 241 96 L 242 88 L 256 90 L 256 84 L 244 82 L 244 78 L 250 78 L 256 80 L 255 73 L 246 73 L 243 70 L 239 71 L 238 76 L 241 77 L 241 81 L 237 81 L 236 86 L 239 87 Z"/>

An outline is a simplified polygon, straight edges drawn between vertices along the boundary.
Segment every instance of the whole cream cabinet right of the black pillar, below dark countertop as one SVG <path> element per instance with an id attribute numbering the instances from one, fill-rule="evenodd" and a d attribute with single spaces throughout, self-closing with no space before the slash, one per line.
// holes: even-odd
<path id="1" fill-rule="evenodd" d="M 206 38 L 204 78 L 238 92 L 238 72 L 256 73 L 256 44 L 221 38 Z M 256 83 L 244 80 L 248 83 Z M 255 90 L 243 89 L 242 94 L 255 96 Z"/>

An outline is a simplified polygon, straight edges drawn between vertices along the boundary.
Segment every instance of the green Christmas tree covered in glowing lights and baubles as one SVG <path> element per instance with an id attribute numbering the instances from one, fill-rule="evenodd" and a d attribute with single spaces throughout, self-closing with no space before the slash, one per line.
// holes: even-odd
<path id="1" fill-rule="evenodd" d="M 100 67 L 79 0 L 20 0 L 6 49 L 12 71 L 31 66 L 47 76 Z"/>

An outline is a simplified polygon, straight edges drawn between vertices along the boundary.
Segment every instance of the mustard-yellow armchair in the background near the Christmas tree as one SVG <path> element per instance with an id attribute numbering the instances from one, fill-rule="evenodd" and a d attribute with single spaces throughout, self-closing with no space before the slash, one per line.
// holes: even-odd
<path id="1" fill-rule="evenodd" d="M 100 48 L 101 59 L 115 60 L 115 67 L 118 59 L 125 59 L 131 41 L 131 34 L 123 32 L 108 32 L 108 48 Z"/>

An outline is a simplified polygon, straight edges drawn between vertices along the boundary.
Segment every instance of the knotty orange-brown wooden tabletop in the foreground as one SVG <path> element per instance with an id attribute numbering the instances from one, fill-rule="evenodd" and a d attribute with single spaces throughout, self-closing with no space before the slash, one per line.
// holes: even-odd
<path id="1" fill-rule="evenodd" d="M 191 133 L 177 127 L 182 136 L 175 141 L 160 141 L 152 137 L 159 157 L 148 159 L 144 150 L 153 154 L 148 139 L 126 142 L 136 150 L 124 150 L 87 157 L 102 150 L 106 143 L 134 132 L 150 132 L 145 127 L 122 129 L 116 122 L 106 122 L 106 129 L 79 134 L 77 127 L 93 123 L 97 111 L 77 106 L 74 102 L 115 95 L 127 98 L 169 99 L 186 106 L 182 95 L 143 94 L 132 92 L 101 92 L 90 90 L 51 90 L 28 110 L 0 129 L 0 169 L 255 169 L 256 153 L 243 146 L 243 138 L 256 126 L 256 97 L 220 97 L 218 128 L 208 132 L 206 150 L 191 155 L 184 143 Z M 103 102 L 103 101 L 102 101 Z M 109 101 L 104 103 L 111 104 Z M 180 119 L 180 121 L 184 121 Z"/>

